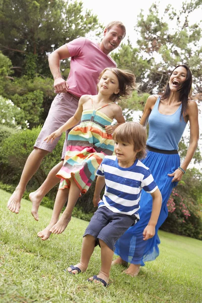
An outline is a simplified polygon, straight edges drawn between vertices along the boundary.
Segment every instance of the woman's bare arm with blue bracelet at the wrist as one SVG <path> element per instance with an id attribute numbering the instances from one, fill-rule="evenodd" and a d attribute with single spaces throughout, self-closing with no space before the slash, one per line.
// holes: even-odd
<path id="1" fill-rule="evenodd" d="M 193 158 L 199 138 L 198 107 L 194 101 L 189 102 L 187 115 L 190 123 L 190 139 L 186 157 L 181 164 L 181 168 L 184 171 L 186 171 L 191 159 Z M 183 172 L 180 169 L 176 169 L 174 173 L 168 174 L 168 176 L 173 177 L 172 182 L 179 182 L 182 179 Z"/>

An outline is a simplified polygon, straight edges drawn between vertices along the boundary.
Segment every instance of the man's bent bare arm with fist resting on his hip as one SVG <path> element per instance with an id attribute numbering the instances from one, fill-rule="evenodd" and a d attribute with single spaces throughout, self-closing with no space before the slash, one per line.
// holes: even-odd
<path id="1" fill-rule="evenodd" d="M 62 45 L 57 48 L 51 55 L 48 57 L 49 68 L 54 77 L 54 89 L 55 92 L 67 92 L 69 85 L 62 78 L 60 72 L 60 61 L 71 57 L 67 45 Z"/>

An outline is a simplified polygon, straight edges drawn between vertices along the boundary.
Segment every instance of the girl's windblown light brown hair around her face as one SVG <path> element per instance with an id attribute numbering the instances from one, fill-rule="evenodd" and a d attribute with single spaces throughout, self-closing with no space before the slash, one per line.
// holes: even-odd
<path id="1" fill-rule="evenodd" d="M 131 96 L 132 91 L 134 89 L 137 89 L 137 84 L 135 83 L 135 75 L 130 70 L 121 70 L 119 68 L 105 68 L 100 74 L 99 74 L 99 80 L 102 78 L 103 74 L 106 71 L 113 72 L 119 81 L 119 93 L 115 94 L 113 93 L 110 96 L 110 100 L 113 102 L 119 100 L 121 97 L 128 98 Z M 97 86 L 98 88 L 98 86 Z"/>

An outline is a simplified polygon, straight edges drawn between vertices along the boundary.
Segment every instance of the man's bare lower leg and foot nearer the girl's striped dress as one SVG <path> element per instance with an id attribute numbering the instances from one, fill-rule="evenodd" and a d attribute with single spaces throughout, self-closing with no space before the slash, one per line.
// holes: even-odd
<path id="1" fill-rule="evenodd" d="M 43 184 L 36 191 L 33 191 L 29 194 L 29 198 L 32 202 L 31 214 L 36 221 L 38 221 L 38 208 L 40 206 L 42 198 L 48 191 L 50 191 L 56 184 L 60 182 L 60 179 L 56 177 L 56 174 L 59 172 L 62 166 L 63 161 L 52 168 Z"/>

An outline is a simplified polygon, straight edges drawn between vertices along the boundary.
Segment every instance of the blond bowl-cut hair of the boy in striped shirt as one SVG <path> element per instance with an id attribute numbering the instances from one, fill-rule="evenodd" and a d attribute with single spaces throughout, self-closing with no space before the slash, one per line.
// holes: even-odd
<path id="1" fill-rule="evenodd" d="M 115 141 L 127 142 L 134 145 L 134 151 L 140 149 L 137 158 L 141 160 L 146 156 L 146 128 L 137 122 L 126 122 L 119 125 L 114 133 Z"/>

